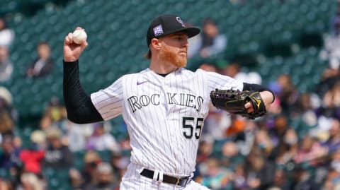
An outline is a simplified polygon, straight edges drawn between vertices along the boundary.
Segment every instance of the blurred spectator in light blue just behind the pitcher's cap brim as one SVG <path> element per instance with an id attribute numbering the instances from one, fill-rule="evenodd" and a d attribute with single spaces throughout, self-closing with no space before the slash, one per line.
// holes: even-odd
<path id="1" fill-rule="evenodd" d="M 217 23 L 211 18 L 205 18 L 205 20 L 203 20 L 203 33 L 198 37 L 200 37 L 200 39 L 196 43 L 196 46 L 188 49 L 189 57 L 196 55 L 203 58 L 211 57 L 224 52 L 227 47 L 226 35 L 220 34 Z"/>

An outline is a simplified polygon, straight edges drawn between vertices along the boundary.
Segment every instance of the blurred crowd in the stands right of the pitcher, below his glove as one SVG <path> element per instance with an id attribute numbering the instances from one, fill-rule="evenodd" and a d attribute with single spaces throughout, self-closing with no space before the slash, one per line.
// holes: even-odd
<path id="1" fill-rule="evenodd" d="M 219 71 L 207 64 L 201 68 Z M 282 74 L 268 85 L 276 94 L 271 109 L 255 120 L 211 107 L 198 150 L 196 180 L 212 189 L 339 188 L 336 85 L 339 82 L 322 95 L 300 94 L 290 76 Z"/>

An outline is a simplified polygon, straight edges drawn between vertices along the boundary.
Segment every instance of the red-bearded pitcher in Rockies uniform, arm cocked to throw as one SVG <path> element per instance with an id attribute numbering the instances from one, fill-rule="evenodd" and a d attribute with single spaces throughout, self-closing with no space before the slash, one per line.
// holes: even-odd
<path id="1" fill-rule="evenodd" d="M 122 114 L 128 126 L 131 163 L 121 190 L 208 189 L 191 178 L 210 93 L 215 89 L 255 90 L 263 107 L 268 109 L 273 102 L 273 93 L 261 85 L 184 69 L 188 38 L 199 32 L 186 27 L 179 16 L 155 18 L 146 37 L 149 67 L 121 76 L 90 96 L 79 81 L 79 57 L 88 44 L 86 40 L 74 43 L 71 32 L 64 39 L 64 102 L 69 120 L 86 124 Z M 242 109 L 254 112 L 253 105 L 244 101 Z"/>

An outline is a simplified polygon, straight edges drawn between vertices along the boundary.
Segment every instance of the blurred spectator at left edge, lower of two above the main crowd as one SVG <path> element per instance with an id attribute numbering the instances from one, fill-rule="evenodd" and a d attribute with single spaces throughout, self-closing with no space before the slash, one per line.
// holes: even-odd
<path id="1" fill-rule="evenodd" d="M 8 58 L 7 47 L 0 46 L 0 82 L 7 81 L 13 73 L 13 64 Z"/>

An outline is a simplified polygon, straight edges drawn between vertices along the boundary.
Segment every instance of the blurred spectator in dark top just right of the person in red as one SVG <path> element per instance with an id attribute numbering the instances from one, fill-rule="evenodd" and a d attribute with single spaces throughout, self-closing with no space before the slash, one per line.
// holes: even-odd
<path id="1" fill-rule="evenodd" d="M 56 127 L 46 130 L 47 150 L 45 150 L 45 159 L 43 167 L 52 167 L 55 169 L 68 168 L 73 164 L 73 155 L 67 146 L 61 141 L 61 131 Z"/>

